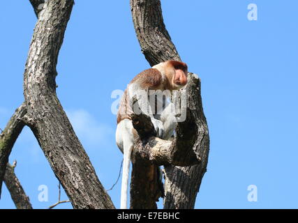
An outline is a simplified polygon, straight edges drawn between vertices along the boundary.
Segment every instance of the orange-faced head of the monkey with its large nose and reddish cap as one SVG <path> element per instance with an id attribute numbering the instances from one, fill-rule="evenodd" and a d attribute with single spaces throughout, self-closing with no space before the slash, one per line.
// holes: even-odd
<path id="1" fill-rule="evenodd" d="M 179 90 L 187 84 L 187 65 L 179 61 L 165 62 L 165 76 L 170 82 L 172 90 Z"/>

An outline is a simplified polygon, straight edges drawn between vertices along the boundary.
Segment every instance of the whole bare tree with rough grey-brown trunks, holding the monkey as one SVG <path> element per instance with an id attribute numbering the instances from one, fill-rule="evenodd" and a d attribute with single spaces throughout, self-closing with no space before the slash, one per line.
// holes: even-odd
<path id="1" fill-rule="evenodd" d="M 0 134 L 0 194 L 4 177 L 6 183 L 11 184 L 8 177 L 13 176 L 13 172 L 8 166 L 8 157 L 22 128 L 27 125 L 73 208 L 112 209 L 114 205 L 98 180 L 56 94 L 57 59 L 74 1 L 30 2 L 38 21 L 24 70 L 24 103 Z M 160 0 L 131 0 L 131 10 L 137 38 L 149 64 L 154 66 L 169 59 L 180 61 L 163 24 Z M 154 137 L 147 116 L 133 116 L 139 138 L 132 160 L 131 208 L 156 208 L 156 199 L 161 196 L 156 184 L 156 168 L 160 165 L 165 167 L 164 208 L 194 207 L 209 153 L 209 133 L 197 75 L 188 75 L 186 95 L 186 121 L 178 123 L 173 141 Z M 174 100 L 181 101 L 182 97 L 179 94 Z M 15 191 L 25 196 L 21 190 Z M 22 207 L 26 205 L 31 208 L 29 200 Z"/>

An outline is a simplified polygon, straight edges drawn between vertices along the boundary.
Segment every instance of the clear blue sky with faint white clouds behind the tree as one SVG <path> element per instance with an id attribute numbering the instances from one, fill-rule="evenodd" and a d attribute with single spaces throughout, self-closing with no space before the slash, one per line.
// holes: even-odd
<path id="1" fill-rule="evenodd" d="M 250 3 L 258 6 L 257 21 L 247 19 Z M 298 1 L 163 0 L 162 7 L 181 59 L 202 80 L 211 145 L 195 208 L 298 208 Z M 3 129 L 23 101 L 36 17 L 29 1 L 1 1 L 0 8 Z M 122 159 L 111 93 L 149 68 L 129 1 L 75 1 L 58 63 L 59 100 L 108 189 Z M 17 140 L 13 160 L 33 208 L 57 201 L 58 180 L 29 128 Z M 48 201 L 38 201 L 40 185 L 47 185 Z M 248 185 L 258 187 L 258 201 L 248 201 Z M 120 187 L 109 192 L 117 208 Z M 0 208 L 15 208 L 5 186 Z"/>

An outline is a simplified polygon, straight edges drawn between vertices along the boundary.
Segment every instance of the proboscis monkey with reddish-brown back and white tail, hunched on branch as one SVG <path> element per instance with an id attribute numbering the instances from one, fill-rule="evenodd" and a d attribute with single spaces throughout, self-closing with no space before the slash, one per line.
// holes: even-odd
<path id="1" fill-rule="evenodd" d="M 179 90 L 185 86 L 187 74 L 186 63 L 165 61 L 140 72 L 128 84 L 126 91 L 124 91 L 119 104 L 116 130 L 117 146 L 124 153 L 121 209 L 127 208 L 129 161 L 136 134 L 131 121 L 131 114 L 134 113 L 133 97 L 137 95 L 140 98 L 141 95 L 142 105 L 140 105 L 140 110 L 151 117 L 151 122 L 156 130 L 156 137 L 170 139 L 177 123 L 176 117 L 172 114 L 174 105 L 168 102 L 167 99 L 165 100 L 163 95 L 170 98 L 173 90 Z M 138 101 L 140 102 L 140 100 Z"/>

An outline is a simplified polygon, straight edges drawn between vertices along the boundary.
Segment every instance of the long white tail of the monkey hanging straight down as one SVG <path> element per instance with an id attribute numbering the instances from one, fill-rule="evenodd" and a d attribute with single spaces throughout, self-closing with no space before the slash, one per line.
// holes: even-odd
<path id="1" fill-rule="evenodd" d="M 123 174 L 121 183 L 121 201 L 120 208 L 127 209 L 127 197 L 128 197 L 128 176 L 129 176 L 129 161 L 131 160 L 131 152 L 133 151 L 133 144 L 127 144 L 124 141 L 124 162 L 123 162 Z"/>

